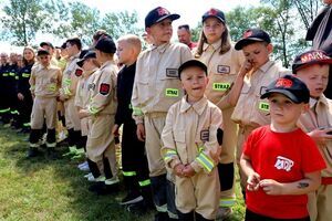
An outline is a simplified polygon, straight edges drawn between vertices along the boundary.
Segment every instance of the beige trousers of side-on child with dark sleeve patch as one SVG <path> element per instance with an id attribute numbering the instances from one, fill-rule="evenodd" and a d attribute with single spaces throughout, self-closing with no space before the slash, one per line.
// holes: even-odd
<path id="1" fill-rule="evenodd" d="M 113 177 L 117 176 L 115 157 L 115 141 L 112 134 L 114 115 L 98 115 L 91 119 L 90 133 L 86 141 L 87 158 L 96 162 L 103 173 L 101 165 L 103 158 L 107 158 Z"/>

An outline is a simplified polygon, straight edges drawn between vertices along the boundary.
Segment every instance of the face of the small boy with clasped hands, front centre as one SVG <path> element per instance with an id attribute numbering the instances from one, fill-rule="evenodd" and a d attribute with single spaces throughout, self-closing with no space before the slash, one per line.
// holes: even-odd
<path id="1" fill-rule="evenodd" d="M 199 101 L 204 96 L 207 83 L 206 73 L 197 66 L 185 69 L 181 73 L 181 84 L 188 95 L 188 102 Z"/>

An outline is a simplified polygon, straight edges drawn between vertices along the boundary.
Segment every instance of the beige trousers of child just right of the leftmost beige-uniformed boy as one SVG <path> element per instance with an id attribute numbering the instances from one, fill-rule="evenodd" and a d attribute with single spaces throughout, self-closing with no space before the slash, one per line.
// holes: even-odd
<path id="1" fill-rule="evenodd" d="M 75 98 L 72 97 L 64 102 L 65 127 L 68 129 L 81 130 L 81 120 L 75 107 Z"/>

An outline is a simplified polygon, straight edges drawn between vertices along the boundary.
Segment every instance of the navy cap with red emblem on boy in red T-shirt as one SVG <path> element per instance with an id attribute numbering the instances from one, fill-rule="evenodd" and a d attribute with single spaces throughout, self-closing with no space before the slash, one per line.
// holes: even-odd
<path id="1" fill-rule="evenodd" d="M 267 98 L 272 93 L 283 94 L 295 104 L 308 104 L 310 99 L 310 92 L 307 85 L 301 80 L 292 75 L 284 75 L 273 81 L 269 84 L 266 93 L 262 94 L 260 98 Z"/>

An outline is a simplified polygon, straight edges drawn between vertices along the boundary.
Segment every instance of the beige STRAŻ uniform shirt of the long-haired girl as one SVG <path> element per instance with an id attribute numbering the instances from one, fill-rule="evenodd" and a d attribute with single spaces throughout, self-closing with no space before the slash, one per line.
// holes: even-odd
<path id="1" fill-rule="evenodd" d="M 217 104 L 230 88 L 245 60 L 242 51 L 231 46 L 228 52 L 220 55 L 220 48 L 221 40 L 214 44 L 205 43 L 204 52 L 198 57 L 208 67 L 209 83 L 206 87 L 206 96 L 214 104 Z"/>

